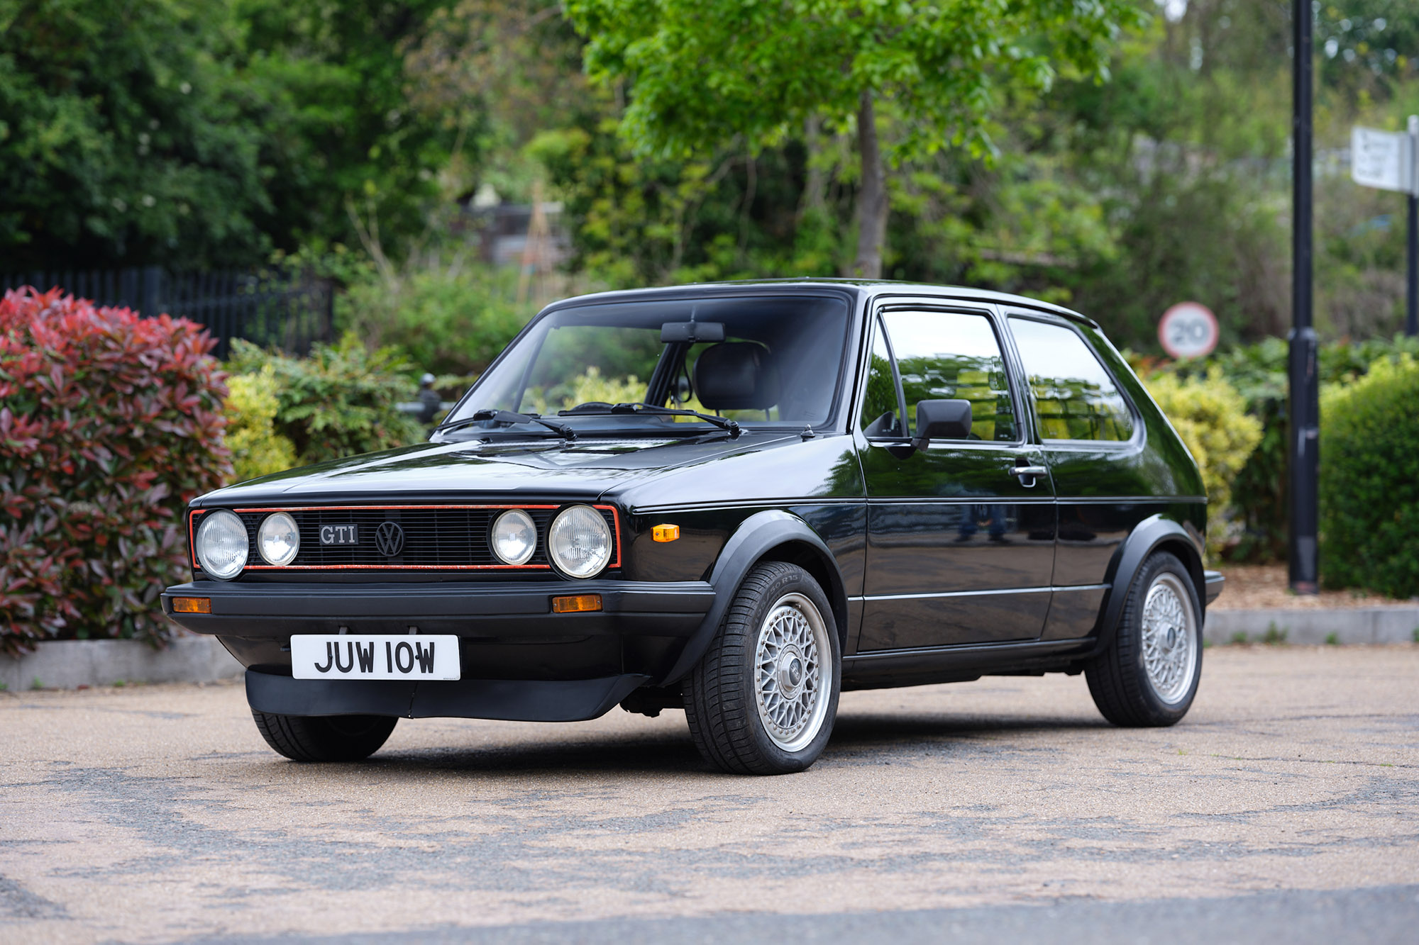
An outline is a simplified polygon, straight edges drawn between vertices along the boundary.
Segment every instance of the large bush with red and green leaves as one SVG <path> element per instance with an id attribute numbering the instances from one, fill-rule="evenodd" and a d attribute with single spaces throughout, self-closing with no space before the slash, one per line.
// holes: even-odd
<path id="1" fill-rule="evenodd" d="M 58 289 L 0 301 L 0 650 L 170 631 L 183 509 L 230 475 L 200 326 Z"/>

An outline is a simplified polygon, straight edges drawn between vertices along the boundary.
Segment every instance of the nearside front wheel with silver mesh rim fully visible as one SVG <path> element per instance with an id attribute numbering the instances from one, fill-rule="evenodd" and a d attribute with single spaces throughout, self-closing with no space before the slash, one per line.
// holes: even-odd
<path id="1" fill-rule="evenodd" d="M 729 773 L 803 770 L 833 734 L 841 678 L 827 595 L 797 565 L 759 565 L 685 680 L 690 736 Z"/>

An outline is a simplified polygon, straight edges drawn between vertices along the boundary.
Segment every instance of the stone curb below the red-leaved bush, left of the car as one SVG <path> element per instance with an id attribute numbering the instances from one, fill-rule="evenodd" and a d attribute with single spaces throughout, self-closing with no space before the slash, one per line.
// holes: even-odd
<path id="1" fill-rule="evenodd" d="M 20 658 L 0 656 L 0 684 L 10 692 L 74 690 L 115 682 L 216 682 L 243 674 L 216 637 L 177 637 L 155 650 L 140 640 L 47 640 Z"/>

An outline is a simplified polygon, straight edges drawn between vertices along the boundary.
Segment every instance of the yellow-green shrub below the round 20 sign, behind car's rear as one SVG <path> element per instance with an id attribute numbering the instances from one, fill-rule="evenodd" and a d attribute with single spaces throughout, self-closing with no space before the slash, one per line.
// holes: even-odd
<path id="1" fill-rule="evenodd" d="M 1246 402 L 1220 370 L 1188 379 L 1164 373 L 1147 383 L 1202 470 L 1208 490 L 1208 549 L 1216 555 L 1227 539 L 1232 482 L 1261 441 L 1261 423 L 1247 416 Z"/>

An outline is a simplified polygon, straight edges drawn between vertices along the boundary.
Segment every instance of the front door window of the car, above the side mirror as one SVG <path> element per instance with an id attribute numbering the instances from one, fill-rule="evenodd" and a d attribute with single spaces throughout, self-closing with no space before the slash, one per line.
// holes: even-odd
<path id="1" fill-rule="evenodd" d="M 901 376 L 908 431 L 917 429 L 918 402 L 969 400 L 972 440 L 1017 438 L 1005 358 L 989 318 L 966 312 L 884 312 L 883 325 Z M 874 360 L 876 356 L 874 352 Z"/>

